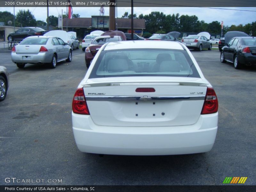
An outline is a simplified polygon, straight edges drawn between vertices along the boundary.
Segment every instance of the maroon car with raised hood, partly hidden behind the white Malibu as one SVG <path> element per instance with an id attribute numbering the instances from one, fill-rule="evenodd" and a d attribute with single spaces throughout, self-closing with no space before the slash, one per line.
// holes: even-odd
<path id="1" fill-rule="evenodd" d="M 123 41 L 121 36 L 98 36 L 92 40 L 92 43 L 85 49 L 85 64 L 89 68 L 92 59 L 100 49 L 100 47 L 108 42 Z"/>

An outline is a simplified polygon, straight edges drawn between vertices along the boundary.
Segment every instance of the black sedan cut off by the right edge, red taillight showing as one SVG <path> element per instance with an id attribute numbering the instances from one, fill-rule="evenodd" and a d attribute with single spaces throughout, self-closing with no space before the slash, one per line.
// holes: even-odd
<path id="1" fill-rule="evenodd" d="M 234 64 L 236 69 L 242 65 L 256 65 L 256 37 L 234 37 L 220 53 L 220 61 Z"/>

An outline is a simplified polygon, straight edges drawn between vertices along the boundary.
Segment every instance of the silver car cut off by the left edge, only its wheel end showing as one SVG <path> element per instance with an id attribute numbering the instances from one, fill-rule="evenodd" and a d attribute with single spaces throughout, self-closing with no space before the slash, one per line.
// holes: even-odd
<path id="1" fill-rule="evenodd" d="M 0 101 L 6 97 L 9 87 L 9 73 L 4 66 L 0 66 Z"/>

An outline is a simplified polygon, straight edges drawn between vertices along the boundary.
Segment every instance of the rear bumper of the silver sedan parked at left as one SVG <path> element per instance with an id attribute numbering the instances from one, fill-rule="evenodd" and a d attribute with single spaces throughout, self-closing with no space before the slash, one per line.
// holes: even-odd
<path id="1" fill-rule="evenodd" d="M 17 54 L 12 52 L 12 62 L 14 63 L 50 63 L 52 61 L 51 53 L 38 53 L 38 54 Z"/>

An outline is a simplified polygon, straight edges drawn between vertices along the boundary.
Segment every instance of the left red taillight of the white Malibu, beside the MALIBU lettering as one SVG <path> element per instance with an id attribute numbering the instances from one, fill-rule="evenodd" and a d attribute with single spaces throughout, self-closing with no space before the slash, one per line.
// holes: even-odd
<path id="1" fill-rule="evenodd" d="M 82 114 L 82 115 L 90 115 L 89 109 L 87 107 L 87 103 L 84 97 L 84 89 L 78 88 L 75 92 L 73 102 L 72 102 L 72 110 L 74 113 Z"/>

